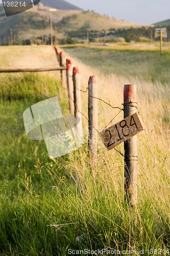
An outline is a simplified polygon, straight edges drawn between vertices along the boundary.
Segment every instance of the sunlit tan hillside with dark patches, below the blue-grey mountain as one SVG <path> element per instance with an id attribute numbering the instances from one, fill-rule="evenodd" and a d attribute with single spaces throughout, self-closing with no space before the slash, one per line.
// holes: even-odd
<path id="1" fill-rule="evenodd" d="M 142 27 L 140 24 L 110 18 L 108 16 L 89 11 L 59 10 L 56 8 L 53 9 L 53 11 L 50 11 L 48 6 L 43 6 L 41 8 L 39 8 L 39 6 L 35 6 L 27 12 L 7 18 L 3 6 L 0 6 L 0 37 L 2 44 L 4 43 L 4 40 L 7 42 L 8 38 L 10 39 L 10 29 L 12 29 L 13 36 L 18 40 L 18 42 L 19 38 L 21 40 L 27 40 L 35 37 L 41 37 L 42 35 L 46 38 L 44 40 L 47 40 L 47 37 L 51 34 L 51 13 L 53 25 L 57 24 L 58 39 L 67 37 L 66 32 L 71 30 L 85 29 L 106 31 L 110 28 L 127 29 L 130 27 Z M 53 29 L 55 29 L 55 26 L 53 26 Z"/>

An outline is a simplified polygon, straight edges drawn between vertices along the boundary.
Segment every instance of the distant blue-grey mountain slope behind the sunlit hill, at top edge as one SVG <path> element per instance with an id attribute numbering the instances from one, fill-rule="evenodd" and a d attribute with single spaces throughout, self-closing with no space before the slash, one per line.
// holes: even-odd
<path id="1" fill-rule="evenodd" d="M 81 10 L 81 8 L 72 5 L 64 0 L 41 0 L 45 6 L 52 7 L 58 10 Z"/>

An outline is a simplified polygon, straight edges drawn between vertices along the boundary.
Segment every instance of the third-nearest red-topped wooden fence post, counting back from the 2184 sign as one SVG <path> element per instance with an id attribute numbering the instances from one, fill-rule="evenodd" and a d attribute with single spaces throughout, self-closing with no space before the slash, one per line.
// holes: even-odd
<path id="1" fill-rule="evenodd" d="M 72 70 L 72 81 L 74 84 L 74 105 L 75 116 L 82 118 L 81 114 L 81 95 L 80 95 L 80 71 L 77 67 Z"/>

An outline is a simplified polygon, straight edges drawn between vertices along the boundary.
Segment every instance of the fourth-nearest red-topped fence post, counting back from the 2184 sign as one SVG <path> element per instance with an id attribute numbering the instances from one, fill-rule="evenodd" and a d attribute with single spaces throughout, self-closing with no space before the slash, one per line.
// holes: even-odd
<path id="1" fill-rule="evenodd" d="M 69 110 L 70 110 L 71 116 L 74 116 L 75 109 L 74 109 L 73 84 L 71 79 L 71 61 L 68 59 L 66 61 L 66 76 L 67 76 Z"/>

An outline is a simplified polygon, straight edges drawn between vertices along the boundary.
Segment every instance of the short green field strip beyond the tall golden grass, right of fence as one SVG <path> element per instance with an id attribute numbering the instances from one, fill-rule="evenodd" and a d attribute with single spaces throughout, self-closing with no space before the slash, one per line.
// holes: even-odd
<path id="1" fill-rule="evenodd" d="M 108 47 L 65 47 L 65 51 L 83 63 L 110 73 L 148 82 L 170 83 L 170 44 L 164 43 L 160 57 L 159 44 L 109 44 Z M 133 77 L 133 78 L 132 78 Z M 135 82 L 135 81 L 134 81 Z"/>

